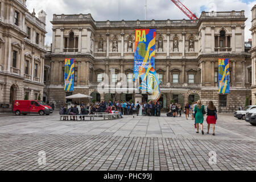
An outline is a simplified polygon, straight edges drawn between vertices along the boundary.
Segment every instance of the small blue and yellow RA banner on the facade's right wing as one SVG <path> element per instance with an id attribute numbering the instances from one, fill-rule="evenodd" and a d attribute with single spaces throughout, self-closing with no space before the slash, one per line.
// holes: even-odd
<path id="1" fill-rule="evenodd" d="M 229 59 L 218 59 L 218 93 L 229 93 Z"/>

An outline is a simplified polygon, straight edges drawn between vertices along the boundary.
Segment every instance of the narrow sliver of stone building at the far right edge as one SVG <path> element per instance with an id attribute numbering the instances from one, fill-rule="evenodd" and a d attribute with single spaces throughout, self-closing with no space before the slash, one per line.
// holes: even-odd
<path id="1" fill-rule="evenodd" d="M 252 47 L 251 53 L 251 68 L 252 72 L 252 82 L 251 82 L 251 101 L 256 105 L 256 71 L 255 71 L 255 61 L 256 61 L 256 5 L 251 9 L 251 38 Z"/>

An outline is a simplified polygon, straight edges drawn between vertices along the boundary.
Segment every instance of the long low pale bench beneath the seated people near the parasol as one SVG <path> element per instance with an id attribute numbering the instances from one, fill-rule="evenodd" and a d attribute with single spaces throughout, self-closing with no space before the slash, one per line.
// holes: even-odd
<path id="1" fill-rule="evenodd" d="M 97 117 L 102 117 L 102 118 L 104 118 L 104 120 L 106 120 L 106 118 L 108 118 L 108 120 L 118 119 L 118 117 L 120 117 L 120 114 L 119 113 L 96 113 L 96 114 L 88 114 L 88 115 L 60 115 L 60 121 L 67 121 L 67 120 L 63 120 L 63 117 L 68 118 L 68 117 L 73 117 L 73 116 L 78 117 L 77 119 L 80 119 L 80 121 L 82 121 L 83 117 L 89 117 L 90 121 L 91 121 L 91 120 L 94 120 L 94 118 L 97 118 Z"/>

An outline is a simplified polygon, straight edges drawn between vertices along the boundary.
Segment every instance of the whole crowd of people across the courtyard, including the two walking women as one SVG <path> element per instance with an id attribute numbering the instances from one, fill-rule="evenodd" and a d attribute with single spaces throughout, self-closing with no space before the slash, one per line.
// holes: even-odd
<path id="1" fill-rule="evenodd" d="M 65 105 L 61 106 L 61 115 L 70 115 L 70 120 L 77 120 L 79 115 L 96 114 L 96 113 L 119 113 L 120 117 L 122 115 L 143 115 L 143 116 L 157 116 L 161 114 L 162 103 L 160 102 L 137 102 L 134 104 L 129 101 L 109 101 L 107 104 L 105 101 L 95 102 L 92 104 L 85 105 L 84 102 L 80 104 L 80 112 L 77 105 L 71 106 L 69 109 Z M 169 107 L 167 117 L 181 117 L 183 108 L 180 104 L 172 103 Z M 207 123 L 209 134 L 210 125 L 213 127 L 213 135 L 215 135 L 215 124 L 217 120 L 217 110 L 212 101 L 209 101 L 207 106 L 207 111 L 202 104 L 201 100 L 193 102 L 192 104 L 185 104 L 184 108 L 185 119 L 189 119 L 189 114 L 191 114 L 191 119 L 195 120 L 196 133 L 199 133 L 199 125 L 201 128 L 201 133 L 204 135 L 204 115 L 207 114 Z M 82 118 L 84 120 L 84 118 Z M 68 116 L 64 117 L 64 120 L 68 120 Z"/>

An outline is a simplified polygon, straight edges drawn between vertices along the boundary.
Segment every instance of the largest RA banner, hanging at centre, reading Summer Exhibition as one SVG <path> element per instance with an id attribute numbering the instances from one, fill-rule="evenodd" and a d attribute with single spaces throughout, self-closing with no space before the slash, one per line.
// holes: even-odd
<path id="1" fill-rule="evenodd" d="M 134 80 L 142 92 L 150 93 L 150 100 L 158 100 L 160 82 L 155 72 L 155 29 L 135 30 L 134 52 Z"/>

